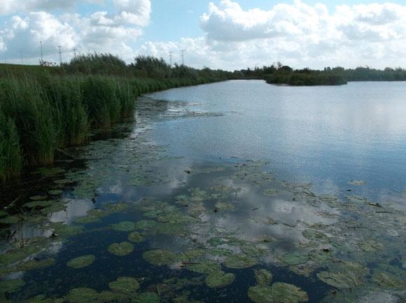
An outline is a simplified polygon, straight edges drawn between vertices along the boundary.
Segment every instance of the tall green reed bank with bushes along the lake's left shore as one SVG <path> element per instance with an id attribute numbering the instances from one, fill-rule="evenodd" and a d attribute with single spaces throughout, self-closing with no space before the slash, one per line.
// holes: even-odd
<path id="1" fill-rule="evenodd" d="M 85 143 L 91 129 L 132 117 L 141 94 L 226 79 L 227 72 L 173 68 L 152 57 L 132 65 L 94 54 L 61 67 L 1 66 L 0 183 L 51 165 L 58 149 Z"/>

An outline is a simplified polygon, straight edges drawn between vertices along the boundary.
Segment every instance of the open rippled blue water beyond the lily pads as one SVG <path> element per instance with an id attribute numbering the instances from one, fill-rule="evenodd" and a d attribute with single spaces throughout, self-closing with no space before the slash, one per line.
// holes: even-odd
<path id="1" fill-rule="evenodd" d="M 287 87 L 237 80 L 151 96 L 224 114 L 158 125 L 158 141 L 191 161 L 267 160 L 281 178 L 325 192 L 361 179 L 365 195 L 377 200 L 406 189 L 405 83 Z"/>

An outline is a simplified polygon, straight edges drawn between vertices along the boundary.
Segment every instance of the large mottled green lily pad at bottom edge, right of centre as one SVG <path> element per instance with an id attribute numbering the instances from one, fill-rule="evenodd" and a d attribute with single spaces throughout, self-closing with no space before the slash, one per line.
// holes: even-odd
<path id="1" fill-rule="evenodd" d="M 255 303 L 299 303 L 308 302 L 307 293 L 287 283 L 274 283 L 272 286 L 252 286 L 248 297 Z"/>

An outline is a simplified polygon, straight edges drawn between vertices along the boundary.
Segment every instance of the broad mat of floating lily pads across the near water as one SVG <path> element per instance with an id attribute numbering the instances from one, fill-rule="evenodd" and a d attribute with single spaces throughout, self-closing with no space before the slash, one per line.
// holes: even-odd
<path id="1" fill-rule="evenodd" d="M 66 209 L 64 199 L 58 197 L 69 186 L 73 199 L 93 199 L 115 193 L 117 188 L 107 185 L 115 184 L 117 176 L 126 176 L 126 185 L 132 188 L 159 187 L 171 181 L 160 165 L 176 160 L 167 160 L 162 153 L 165 148 L 150 143 L 146 132 L 126 140 L 92 142 L 83 155 L 87 169 L 40 169 L 38 174 L 55 180 L 52 188 L 27 199 L 21 205 L 27 213 L 0 211 L 0 223 L 6 226 L 2 232 L 10 234 L 0 255 L 0 300 L 197 303 L 200 300 L 190 289 L 227 292 L 247 270 L 255 276 L 255 283 L 247 283 L 244 290 L 252 302 L 311 300 L 309 290 L 281 282 L 269 266 L 322 285 L 325 303 L 366 303 L 371 297 L 381 297 L 382 302 L 406 300 L 406 212 L 401 205 L 371 202 L 352 195 L 352 190 L 318 194 L 310 184 L 278 180 L 264 169 L 267 162 L 179 166 L 179 174 L 197 179 L 209 176 L 210 182 L 200 188 L 180 185 L 176 195 L 160 197 L 163 201 L 144 197 L 98 206 L 69 224 L 48 220 L 50 214 Z M 355 187 L 353 191 L 365 184 L 348 183 Z M 130 211 L 142 218 L 103 223 Z M 42 234 L 17 241 L 13 233 L 27 225 Z M 99 250 L 111 258 L 141 257 L 150 267 L 171 269 L 173 276 L 150 284 L 118 272 L 118 279 L 106 284 L 102 292 L 83 286 L 59 297 L 16 296 L 27 283 L 23 277 L 15 279 L 16 274 L 55 265 L 56 258 L 48 251 L 56 241 L 74 243 L 79 234 L 106 230 L 126 239 L 106 243 Z M 162 236 L 177 244 L 176 249 L 153 241 Z M 78 255 L 67 260 L 66 267 L 80 271 L 99 260 L 97 253 Z"/>

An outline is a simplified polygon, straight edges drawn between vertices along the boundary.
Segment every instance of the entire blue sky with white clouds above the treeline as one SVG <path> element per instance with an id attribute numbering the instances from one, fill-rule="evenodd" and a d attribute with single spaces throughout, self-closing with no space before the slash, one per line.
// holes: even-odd
<path id="1" fill-rule="evenodd" d="M 406 67 L 404 0 L 1 0 L 0 59 L 37 64 L 57 46 L 155 55 L 243 69 L 280 61 L 296 68 Z"/>

